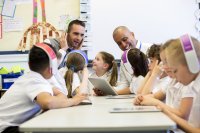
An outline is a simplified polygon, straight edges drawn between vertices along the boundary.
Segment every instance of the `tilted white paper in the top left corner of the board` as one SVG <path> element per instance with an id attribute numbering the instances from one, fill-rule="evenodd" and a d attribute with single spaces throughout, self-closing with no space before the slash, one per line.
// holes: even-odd
<path id="1" fill-rule="evenodd" d="M 2 8 L 2 16 L 14 17 L 16 5 L 13 0 L 5 0 Z"/>

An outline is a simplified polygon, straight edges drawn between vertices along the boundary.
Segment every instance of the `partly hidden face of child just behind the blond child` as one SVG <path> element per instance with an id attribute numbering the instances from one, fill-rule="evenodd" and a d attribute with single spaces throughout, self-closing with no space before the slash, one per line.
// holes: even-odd
<path id="1" fill-rule="evenodd" d="M 172 73 L 172 69 L 167 65 L 167 60 L 165 56 L 165 51 L 160 53 L 160 59 L 162 61 L 162 69 L 164 69 L 165 73 L 170 77 L 174 78 L 174 74 Z"/>

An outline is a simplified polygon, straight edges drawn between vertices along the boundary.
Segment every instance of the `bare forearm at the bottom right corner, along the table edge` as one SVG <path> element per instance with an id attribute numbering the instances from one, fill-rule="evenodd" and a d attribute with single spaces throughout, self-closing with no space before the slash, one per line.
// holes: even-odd
<path id="1" fill-rule="evenodd" d="M 199 128 L 192 127 L 190 124 L 188 124 L 188 122 L 186 120 L 178 117 L 177 115 L 173 114 L 169 110 L 164 109 L 163 112 L 165 114 L 167 114 L 167 116 L 169 116 L 174 122 L 176 122 L 178 124 L 178 126 L 185 132 L 187 132 L 187 133 L 199 133 L 200 132 Z"/>

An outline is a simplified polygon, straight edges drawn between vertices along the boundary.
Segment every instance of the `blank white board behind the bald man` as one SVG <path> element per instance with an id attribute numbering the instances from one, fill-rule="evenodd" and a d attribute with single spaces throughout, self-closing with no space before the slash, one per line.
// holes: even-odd
<path id="1" fill-rule="evenodd" d="M 120 59 L 121 51 L 112 38 L 120 25 L 147 43 L 165 42 L 184 33 L 196 37 L 197 8 L 196 0 L 91 0 L 93 51 L 89 58 L 104 50 Z"/>

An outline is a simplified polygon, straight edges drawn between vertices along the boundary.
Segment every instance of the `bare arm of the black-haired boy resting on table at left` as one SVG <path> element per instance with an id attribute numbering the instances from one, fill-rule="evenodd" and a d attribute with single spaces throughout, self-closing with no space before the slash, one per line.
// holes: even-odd
<path id="1" fill-rule="evenodd" d="M 79 104 L 82 100 L 86 99 L 84 95 L 77 95 L 68 99 L 66 95 L 61 93 L 57 89 L 53 89 L 54 96 L 50 93 L 42 92 L 37 95 L 36 102 L 41 106 L 43 110 L 64 108 Z"/>

